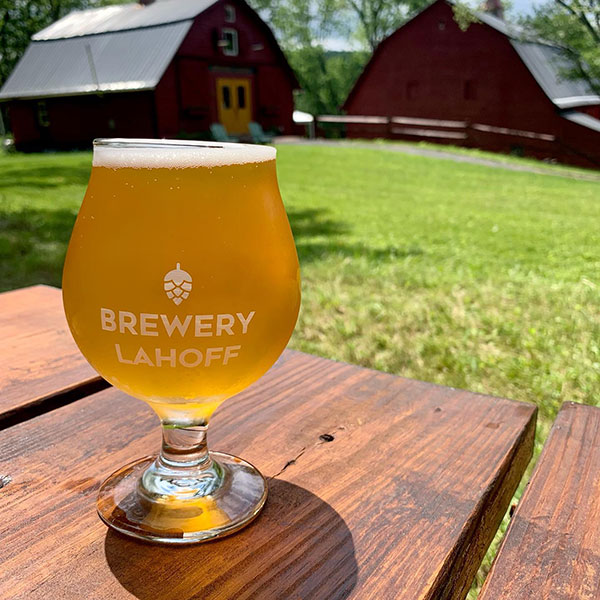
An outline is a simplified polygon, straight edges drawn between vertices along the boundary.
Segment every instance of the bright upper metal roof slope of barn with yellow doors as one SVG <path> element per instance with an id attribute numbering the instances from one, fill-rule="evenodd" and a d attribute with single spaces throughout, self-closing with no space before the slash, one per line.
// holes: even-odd
<path id="1" fill-rule="evenodd" d="M 194 19 L 217 0 L 156 0 L 148 6 L 137 2 L 75 10 L 36 33 L 34 41 L 153 27 Z"/>

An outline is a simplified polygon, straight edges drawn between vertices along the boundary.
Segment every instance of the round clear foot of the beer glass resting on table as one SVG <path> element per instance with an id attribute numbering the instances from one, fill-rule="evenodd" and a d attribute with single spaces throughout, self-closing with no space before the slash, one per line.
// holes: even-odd
<path id="1" fill-rule="evenodd" d="M 210 457 L 219 471 L 219 485 L 208 495 L 183 499 L 141 493 L 141 477 L 156 457 L 147 456 L 126 465 L 100 488 L 100 518 L 121 533 L 165 544 L 205 542 L 235 533 L 264 506 L 267 483 L 241 458 L 222 452 L 210 452 Z"/>

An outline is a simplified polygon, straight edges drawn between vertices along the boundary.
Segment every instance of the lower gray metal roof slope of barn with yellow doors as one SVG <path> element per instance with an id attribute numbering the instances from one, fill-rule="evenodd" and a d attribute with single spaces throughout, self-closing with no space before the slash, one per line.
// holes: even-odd
<path id="1" fill-rule="evenodd" d="M 33 42 L 0 100 L 153 89 L 192 22 Z"/>

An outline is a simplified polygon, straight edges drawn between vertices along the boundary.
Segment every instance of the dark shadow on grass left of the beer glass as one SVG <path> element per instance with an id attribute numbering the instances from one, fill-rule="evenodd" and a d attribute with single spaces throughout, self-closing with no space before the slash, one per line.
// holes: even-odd
<path id="1" fill-rule="evenodd" d="M 60 286 L 76 213 L 0 208 L 0 291 L 46 283 Z"/>

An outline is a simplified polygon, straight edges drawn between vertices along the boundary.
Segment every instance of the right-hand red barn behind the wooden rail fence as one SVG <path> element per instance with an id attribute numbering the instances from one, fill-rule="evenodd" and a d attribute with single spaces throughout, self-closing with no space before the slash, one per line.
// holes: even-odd
<path id="1" fill-rule="evenodd" d="M 600 167 L 600 97 L 561 48 L 437 0 L 384 40 L 344 105 L 351 137 L 426 139 Z"/>

